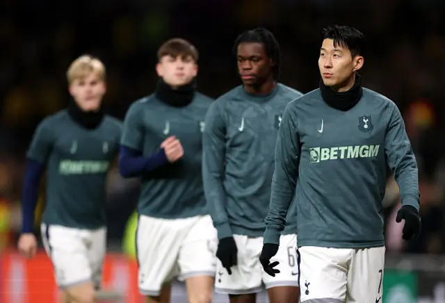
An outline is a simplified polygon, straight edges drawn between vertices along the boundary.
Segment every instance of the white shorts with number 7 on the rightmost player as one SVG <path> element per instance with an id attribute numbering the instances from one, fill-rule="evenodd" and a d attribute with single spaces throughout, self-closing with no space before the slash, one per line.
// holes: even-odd
<path id="1" fill-rule="evenodd" d="M 305 246 L 298 255 L 302 303 L 382 303 L 385 247 Z"/>

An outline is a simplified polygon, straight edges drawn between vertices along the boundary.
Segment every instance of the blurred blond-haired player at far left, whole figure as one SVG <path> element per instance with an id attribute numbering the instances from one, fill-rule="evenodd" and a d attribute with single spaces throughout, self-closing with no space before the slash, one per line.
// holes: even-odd
<path id="1" fill-rule="evenodd" d="M 105 67 L 81 56 L 67 70 L 72 100 L 38 125 L 26 154 L 19 251 L 31 259 L 38 185 L 47 170 L 41 233 L 63 303 L 95 302 L 106 252 L 106 175 L 118 153 L 121 123 L 104 115 Z"/>

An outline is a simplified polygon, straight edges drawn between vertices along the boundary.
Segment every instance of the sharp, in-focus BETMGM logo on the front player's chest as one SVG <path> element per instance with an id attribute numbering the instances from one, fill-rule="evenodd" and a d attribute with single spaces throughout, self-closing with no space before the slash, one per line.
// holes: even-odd
<path id="1" fill-rule="evenodd" d="M 321 161 L 353 158 L 375 158 L 380 145 L 355 145 L 341 147 L 311 147 L 309 148 L 310 163 Z"/>

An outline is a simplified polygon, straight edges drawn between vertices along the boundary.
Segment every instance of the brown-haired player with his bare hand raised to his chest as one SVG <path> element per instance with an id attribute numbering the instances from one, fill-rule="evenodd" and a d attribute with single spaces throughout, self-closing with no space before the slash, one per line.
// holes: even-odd
<path id="1" fill-rule="evenodd" d="M 196 91 L 198 53 L 183 39 L 158 51 L 154 94 L 131 105 L 120 152 L 124 177 L 142 177 L 136 233 L 139 290 L 170 302 L 170 281 L 185 279 L 188 302 L 210 303 L 214 229 L 202 188 L 202 132 L 211 99 Z"/>

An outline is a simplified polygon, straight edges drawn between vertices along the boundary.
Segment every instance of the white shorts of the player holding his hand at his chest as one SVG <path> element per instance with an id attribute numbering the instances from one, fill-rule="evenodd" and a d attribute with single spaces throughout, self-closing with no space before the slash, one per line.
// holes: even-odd
<path id="1" fill-rule="evenodd" d="M 140 215 L 136 231 L 140 294 L 157 296 L 175 277 L 214 277 L 217 245 L 210 215 L 175 220 Z"/>

